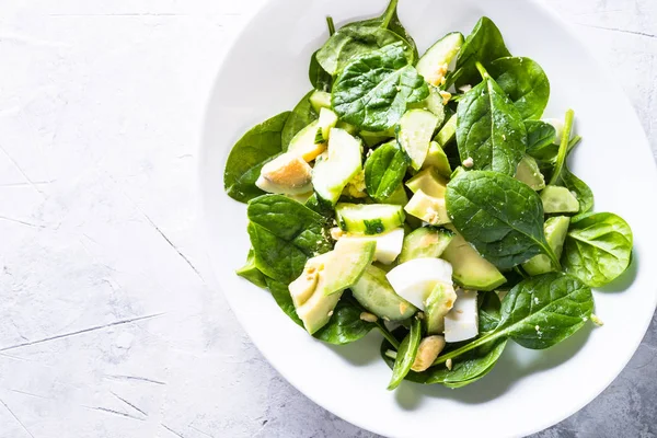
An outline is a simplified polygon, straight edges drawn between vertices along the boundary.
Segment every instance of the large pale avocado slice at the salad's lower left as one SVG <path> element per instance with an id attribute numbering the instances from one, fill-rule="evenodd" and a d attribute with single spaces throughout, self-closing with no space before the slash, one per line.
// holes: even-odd
<path id="1" fill-rule="evenodd" d="M 373 242 L 341 242 L 310 258 L 288 289 L 308 333 L 323 327 L 345 289 L 358 281 L 374 255 Z"/>

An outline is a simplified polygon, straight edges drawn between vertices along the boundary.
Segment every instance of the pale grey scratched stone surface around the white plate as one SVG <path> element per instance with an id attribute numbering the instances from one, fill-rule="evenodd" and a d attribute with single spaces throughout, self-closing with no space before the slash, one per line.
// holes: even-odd
<path id="1" fill-rule="evenodd" d="M 0 437 L 372 436 L 272 369 L 196 235 L 203 102 L 261 3 L 0 2 Z M 549 3 L 657 153 L 657 3 Z M 616 381 L 538 437 L 655 437 L 656 355 L 654 320 Z"/>

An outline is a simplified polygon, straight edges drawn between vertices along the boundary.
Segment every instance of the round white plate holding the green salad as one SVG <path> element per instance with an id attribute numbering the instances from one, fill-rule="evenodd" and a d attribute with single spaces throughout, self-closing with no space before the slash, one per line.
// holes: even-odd
<path id="1" fill-rule="evenodd" d="M 634 230 L 630 273 L 596 292 L 601 328 L 590 325 L 545 351 L 510 346 L 482 381 L 460 390 L 404 382 L 385 385 L 380 335 L 345 347 L 308 336 L 270 296 L 234 275 L 246 256 L 245 207 L 223 193 L 227 154 L 251 126 L 291 110 L 311 89 L 308 64 L 337 24 L 371 16 L 384 0 L 272 0 L 257 13 L 217 77 L 201 145 L 207 244 L 219 285 L 269 362 L 296 388 L 346 420 L 385 436 L 509 437 L 549 427 L 581 408 L 619 374 L 638 346 L 657 302 L 657 172 L 641 125 L 619 88 L 577 37 L 533 1 L 401 0 L 400 16 L 420 54 L 451 31 L 468 34 L 481 15 L 500 27 L 515 55 L 541 64 L 552 84 L 545 114 L 573 107 L 584 142 L 573 171 L 589 183 L 597 211 L 623 216 Z M 653 200 L 650 200 L 653 199 Z"/>

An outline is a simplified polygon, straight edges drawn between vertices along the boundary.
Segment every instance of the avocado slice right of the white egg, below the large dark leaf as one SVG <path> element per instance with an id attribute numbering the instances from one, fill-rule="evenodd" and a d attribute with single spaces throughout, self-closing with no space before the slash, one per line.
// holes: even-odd
<path id="1" fill-rule="evenodd" d="M 453 231 L 451 243 L 441 257 L 451 263 L 454 281 L 466 289 L 493 290 L 504 285 L 506 278 L 495 265 L 484 260 L 474 247 L 457 232 L 453 226 L 447 226 Z"/>

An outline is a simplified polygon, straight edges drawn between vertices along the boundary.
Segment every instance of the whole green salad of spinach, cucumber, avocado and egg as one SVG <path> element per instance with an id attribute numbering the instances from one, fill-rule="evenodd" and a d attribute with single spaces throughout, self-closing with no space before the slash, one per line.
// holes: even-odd
<path id="1" fill-rule="evenodd" d="M 376 330 L 403 380 L 470 384 L 510 342 L 549 348 L 591 321 L 591 288 L 630 265 L 632 231 L 592 212 L 570 172 L 574 112 L 542 118 L 550 82 L 482 18 L 424 55 L 381 16 L 336 30 L 310 59 L 312 90 L 253 127 L 226 164 L 246 203 L 237 274 L 310 335 Z"/>

